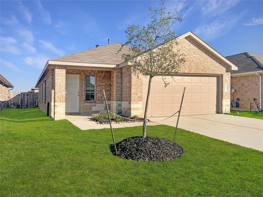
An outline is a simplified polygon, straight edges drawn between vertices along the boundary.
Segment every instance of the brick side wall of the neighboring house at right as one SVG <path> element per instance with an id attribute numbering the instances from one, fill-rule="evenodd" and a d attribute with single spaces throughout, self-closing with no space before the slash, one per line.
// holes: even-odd
<path id="1" fill-rule="evenodd" d="M 235 107 L 234 110 L 251 110 L 257 111 L 257 106 L 253 101 L 253 98 L 257 98 L 256 103 L 260 107 L 260 95 L 259 95 L 259 76 L 257 75 L 246 75 L 246 76 L 231 76 L 232 88 L 235 92 L 231 92 L 231 101 L 233 99 L 239 98 L 237 101 L 239 107 Z M 262 96 L 262 95 L 261 95 Z"/>

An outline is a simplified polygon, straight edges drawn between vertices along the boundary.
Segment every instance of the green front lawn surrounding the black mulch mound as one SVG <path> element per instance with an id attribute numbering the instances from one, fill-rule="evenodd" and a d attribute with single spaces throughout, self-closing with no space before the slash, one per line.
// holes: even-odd
<path id="1" fill-rule="evenodd" d="M 174 127 L 148 126 L 173 139 Z M 141 127 L 114 129 L 115 141 Z M 1 196 L 262 196 L 263 152 L 178 129 L 182 157 L 131 161 L 110 152 L 110 129 L 82 131 L 34 109 L 1 111 Z"/>

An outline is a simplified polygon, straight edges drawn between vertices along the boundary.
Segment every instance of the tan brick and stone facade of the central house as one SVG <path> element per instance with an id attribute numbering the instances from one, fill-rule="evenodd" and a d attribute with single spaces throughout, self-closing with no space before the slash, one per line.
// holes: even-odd
<path id="1" fill-rule="evenodd" d="M 228 67 L 219 59 L 189 38 L 184 38 L 175 46 L 175 50 L 185 54 L 186 62 L 180 73 L 208 74 L 219 76 L 219 112 L 230 111 L 230 72 Z M 115 70 L 86 70 L 69 69 L 67 66 L 55 66 L 45 79 L 40 82 L 39 96 L 42 96 L 42 84 L 46 81 L 46 103 L 39 99 L 39 108 L 46 111 L 50 102 L 49 113 L 54 120 L 65 118 L 65 76 L 66 74 L 80 75 L 80 113 L 106 112 L 103 89 L 106 93 L 109 109 L 124 116 L 142 115 L 142 80 L 143 74 L 135 76 L 131 68 L 122 67 Z M 95 101 L 85 101 L 85 76 L 95 76 Z M 225 84 L 229 91 L 225 91 Z M 44 91 L 43 91 L 44 92 Z M 44 93 L 43 93 L 44 94 Z"/>

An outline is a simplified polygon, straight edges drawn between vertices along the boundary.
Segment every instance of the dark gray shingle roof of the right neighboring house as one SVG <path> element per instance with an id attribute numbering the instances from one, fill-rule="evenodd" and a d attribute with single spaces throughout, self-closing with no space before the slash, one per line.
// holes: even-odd
<path id="1" fill-rule="evenodd" d="M 226 59 L 238 68 L 238 70 L 231 71 L 231 74 L 263 70 L 263 55 L 246 52 L 227 56 Z"/>

